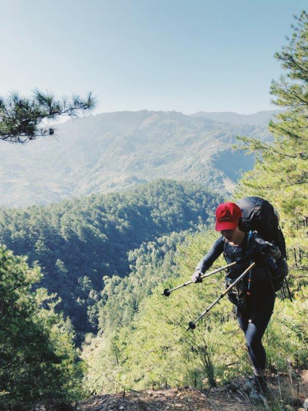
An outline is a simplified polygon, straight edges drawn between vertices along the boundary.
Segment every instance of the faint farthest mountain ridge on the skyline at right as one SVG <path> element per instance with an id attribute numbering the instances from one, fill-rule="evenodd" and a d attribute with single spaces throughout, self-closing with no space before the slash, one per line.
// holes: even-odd
<path id="1" fill-rule="evenodd" d="M 219 121 L 221 123 L 266 125 L 268 121 L 280 111 L 281 110 L 258 111 L 258 113 L 248 115 L 232 112 L 219 113 L 214 111 L 213 113 L 207 113 L 206 111 L 198 111 L 197 113 L 192 114 L 192 116 L 203 117 L 205 119 Z"/>

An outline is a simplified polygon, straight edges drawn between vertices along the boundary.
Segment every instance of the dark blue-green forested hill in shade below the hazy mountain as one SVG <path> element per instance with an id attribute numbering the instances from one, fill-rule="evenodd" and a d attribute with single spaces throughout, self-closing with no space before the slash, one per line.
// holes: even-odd
<path id="1" fill-rule="evenodd" d="M 46 207 L 2 209 L 0 238 L 15 254 L 26 255 L 29 264 L 38 261 L 41 285 L 61 297 L 58 309 L 85 332 L 96 329 L 103 277 L 128 274 L 130 250 L 210 223 L 221 200 L 201 185 L 158 180 Z"/>

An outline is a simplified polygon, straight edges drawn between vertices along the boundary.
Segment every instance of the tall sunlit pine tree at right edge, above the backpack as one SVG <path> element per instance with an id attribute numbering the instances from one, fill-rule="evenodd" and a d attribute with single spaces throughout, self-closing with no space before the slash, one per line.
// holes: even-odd
<path id="1" fill-rule="evenodd" d="M 271 83 L 273 103 L 283 108 L 269 122 L 271 144 L 240 138 L 242 149 L 257 153 L 255 167 L 244 174 L 235 196 L 258 194 L 272 201 L 289 229 L 307 224 L 308 155 L 308 14 L 295 17 L 297 24 L 288 44 L 275 54 L 285 75 Z M 291 233 L 290 232 L 290 233 Z"/>

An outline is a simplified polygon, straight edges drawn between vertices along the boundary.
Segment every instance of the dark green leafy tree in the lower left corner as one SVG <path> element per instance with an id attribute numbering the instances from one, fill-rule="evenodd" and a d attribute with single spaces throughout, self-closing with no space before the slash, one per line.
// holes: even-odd
<path id="1" fill-rule="evenodd" d="M 54 295 L 31 292 L 42 277 L 25 257 L 0 247 L 0 409 L 71 403 L 82 394 L 83 369 L 73 336 L 55 313 Z"/>

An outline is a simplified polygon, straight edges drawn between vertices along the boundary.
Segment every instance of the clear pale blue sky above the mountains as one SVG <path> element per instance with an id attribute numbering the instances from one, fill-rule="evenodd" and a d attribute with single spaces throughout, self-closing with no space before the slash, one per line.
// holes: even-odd
<path id="1" fill-rule="evenodd" d="M 0 95 L 94 91 L 97 113 L 275 108 L 306 0 L 0 0 Z"/>

